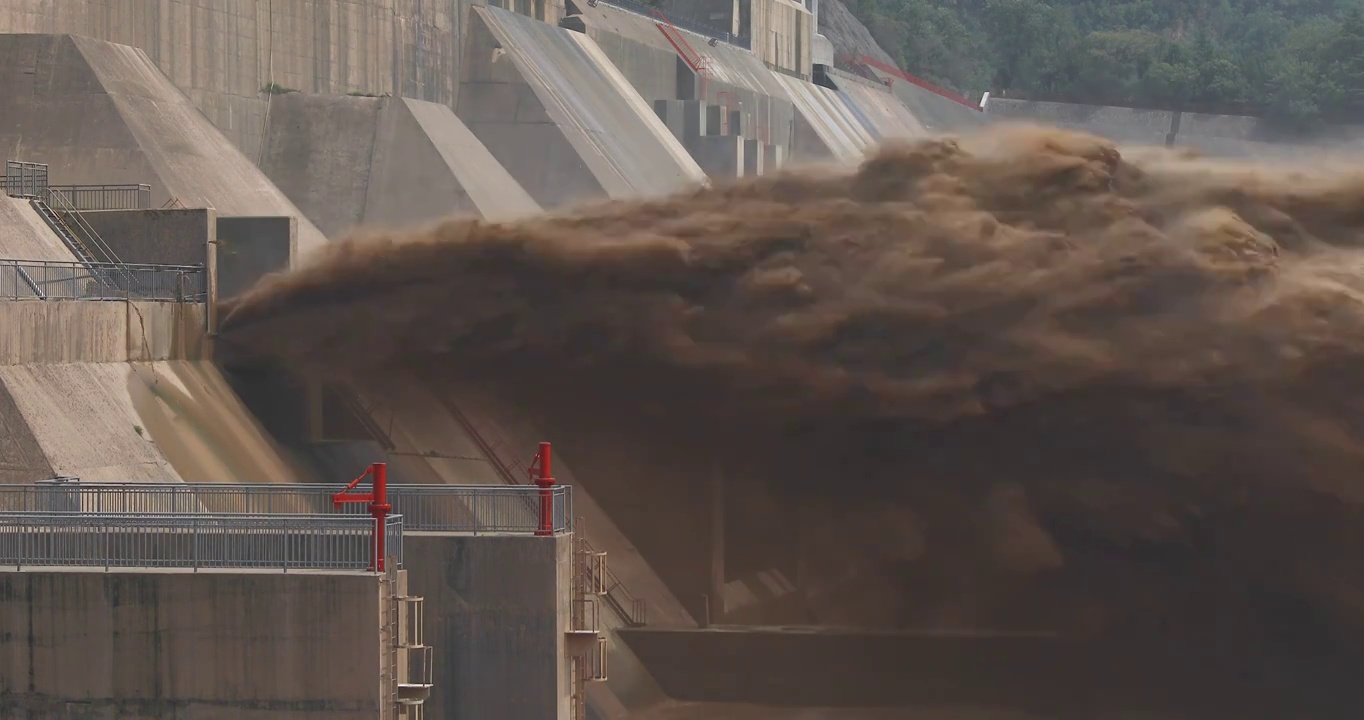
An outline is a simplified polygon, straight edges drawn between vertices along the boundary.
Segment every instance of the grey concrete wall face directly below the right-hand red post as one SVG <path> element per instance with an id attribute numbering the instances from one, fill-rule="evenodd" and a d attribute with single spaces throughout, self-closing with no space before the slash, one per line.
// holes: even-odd
<path id="1" fill-rule="evenodd" d="M 404 558 L 439 653 L 428 717 L 572 717 L 572 535 L 409 533 Z"/>

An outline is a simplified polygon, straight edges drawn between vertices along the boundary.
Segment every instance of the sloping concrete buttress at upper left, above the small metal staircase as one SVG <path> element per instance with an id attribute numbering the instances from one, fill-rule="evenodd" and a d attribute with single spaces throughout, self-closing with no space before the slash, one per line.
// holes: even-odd
<path id="1" fill-rule="evenodd" d="M 0 79 L 0 153 L 46 162 L 53 183 L 149 183 L 220 215 L 297 209 L 140 50 L 71 35 L 0 35 L 0 61 L 31 67 Z M 22 155 L 22 157 L 20 157 Z M 301 250 L 322 233 L 301 221 Z"/>

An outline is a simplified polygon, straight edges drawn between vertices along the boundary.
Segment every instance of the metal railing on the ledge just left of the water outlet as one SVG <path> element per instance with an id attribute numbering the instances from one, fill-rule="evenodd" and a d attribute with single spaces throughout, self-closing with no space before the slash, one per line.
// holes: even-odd
<path id="1" fill-rule="evenodd" d="M 203 267 L 0 259 L 5 300 L 165 300 L 202 303 Z"/>

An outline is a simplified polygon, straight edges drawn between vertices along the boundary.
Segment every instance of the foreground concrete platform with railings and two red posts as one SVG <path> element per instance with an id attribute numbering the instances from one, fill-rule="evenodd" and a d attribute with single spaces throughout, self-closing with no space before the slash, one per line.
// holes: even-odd
<path id="1" fill-rule="evenodd" d="M 83 592 L 100 586 L 105 595 L 120 596 L 135 578 L 145 585 L 136 597 L 154 599 L 149 611 L 168 611 L 164 603 L 180 596 L 162 600 L 169 593 L 162 588 L 173 585 L 190 597 L 188 604 L 169 612 L 194 616 L 213 607 L 214 616 L 224 611 L 241 616 L 255 627 L 213 634 L 195 646 L 195 655 L 248 663 L 251 657 L 288 659 L 286 667 L 277 670 L 292 674 L 289 687 L 263 678 L 231 678 L 233 682 L 218 689 L 218 700 L 229 705 L 278 704 L 278 717 L 420 720 L 431 708 L 434 717 L 529 712 L 584 719 L 587 685 L 606 679 L 607 641 L 596 625 L 599 588 L 591 580 L 599 575 L 588 571 L 593 563 L 600 570 L 604 554 L 585 552 L 574 541 L 572 507 L 570 487 L 544 483 L 387 485 L 385 464 L 371 465 L 348 485 L 85 483 L 57 477 L 0 485 L 0 578 L 33 584 L 34 578 L 55 582 L 76 577 L 90 585 Z M 460 556 L 468 562 L 450 559 Z M 517 558 L 525 560 L 524 567 L 509 562 Z M 481 575 L 476 574 L 468 584 L 471 570 L 483 573 L 492 565 L 501 584 L 531 571 L 527 582 L 510 584 L 524 597 L 509 608 L 502 607 L 507 599 L 495 595 L 479 599 L 480 585 L 499 582 L 479 582 Z M 250 592 L 235 582 L 250 585 Z M 451 586 L 464 605 L 443 593 Z M 532 588 L 551 592 L 520 592 Z M 46 589 L 38 588 L 40 596 Z M 0 612 L 38 612 L 23 597 L 27 595 Z M 299 597 L 307 604 L 300 605 Z M 289 610 L 262 620 L 251 611 L 262 604 Z M 299 622 L 297 614 L 308 616 L 301 629 L 289 625 Z M 127 644 L 119 642 L 117 633 L 109 640 L 100 630 L 86 625 L 80 633 L 91 637 L 83 644 L 108 644 L 115 664 L 135 661 L 120 660 Z M 491 637 L 479 637 L 480 631 Z M 259 646 L 262 635 L 265 645 Z M 488 642 L 505 645 L 509 635 L 521 642 L 513 649 L 524 655 L 514 657 L 514 667 L 510 661 L 490 663 L 480 650 Z M 428 644 L 427 638 L 441 641 Z M 138 652 L 168 656 L 172 668 L 194 663 L 179 656 L 181 641 L 166 637 L 153 642 L 166 646 L 139 646 Z M 449 642 L 468 648 L 439 646 Z M 57 648 L 63 645 L 57 642 Z M 340 665 L 345 670 L 333 680 L 330 675 Z M 22 678 L 27 670 L 0 664 L 0 682 Z M 370 678 L 364 680 L 370 687 L 378 682 L 378 691 L 361 701 L 352 686 L 364 678 Z M 173 716 L 177 682 L 168 676 L 151 683 L 169 689 L 169 697 L 143 698 L 151 705 L 146 717 Z M 506 689 L 516 686 L 539 691 L 507 697 Z M 29 702 L 35 717 L 60 716 L 41 709 L 50 695 L 74 701 L 38 687 L 30 694 L 22 690 L 3 687 L 26 698 L 20 702 Z M 97 705 L 128 701 L 117 695 L 91 700 Z M 296 702 L 326 708 L 327 713 L 284 709 L 284 704 Z"/>

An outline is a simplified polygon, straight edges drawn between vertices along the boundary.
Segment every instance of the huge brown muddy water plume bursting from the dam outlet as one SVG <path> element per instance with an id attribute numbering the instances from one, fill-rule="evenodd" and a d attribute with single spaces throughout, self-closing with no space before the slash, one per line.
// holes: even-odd
<path id="1" fill-rule="evenodd" d="M 1176 548 L 1196 571 L 1170 597 L 1214 573 L 1345 630 L 1364 627 L 1361 245 L 1364 175 L 1012 127 L 357 235 L 221 330 L 338 375 L 552 397 L 821 506 L 903 505 L 948 567 L 998 554 L 975 514 L 1007 485 L 1050 565 L 1123 558 L 1095 565 L 1114 596 Z"/>

